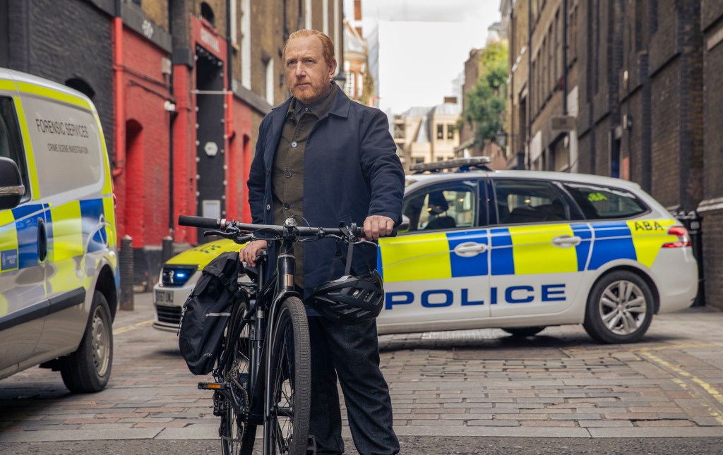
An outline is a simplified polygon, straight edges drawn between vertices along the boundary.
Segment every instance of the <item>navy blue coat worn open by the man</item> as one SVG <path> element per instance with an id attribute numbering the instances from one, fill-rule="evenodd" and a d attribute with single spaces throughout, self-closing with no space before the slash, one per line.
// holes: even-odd
<path id="1" fill-rule="evenodd" d="M 399 224 L 404 170 L 387 117 L 349 100 L 338 86 L 333 90 L 335 102 L 315 124 L 304 151 L 304 218 L 321 228 L 337 228 L 339 222 L 361 226 L 369 215 Z M 252 222 L 257 224 L 273 224 L 270 174 L 290 103 L 291 98 L 273 108 L 259 127 L 248 181 Z M 304 298 L 322 282 L 341 277 L 345 258 L 346 247 L 333 239 L 304 243 Z M 376 266 L 377 248 L 355 247 L 352 274 Z"/>

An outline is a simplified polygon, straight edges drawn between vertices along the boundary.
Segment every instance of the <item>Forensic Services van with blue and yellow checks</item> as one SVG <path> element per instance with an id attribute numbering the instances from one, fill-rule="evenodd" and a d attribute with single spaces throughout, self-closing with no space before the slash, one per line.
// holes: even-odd
<path id="1" fill-rule="evenodd" d="M 0 379 L 40 365 L 70 391 L 103 389 L 118 290 L 111 170 L 93 103 L 0 68 Z"/>

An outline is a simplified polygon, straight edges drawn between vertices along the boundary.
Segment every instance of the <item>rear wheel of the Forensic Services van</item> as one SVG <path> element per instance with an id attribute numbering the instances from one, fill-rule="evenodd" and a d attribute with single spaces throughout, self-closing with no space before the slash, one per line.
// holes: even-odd
<path id="1" fill-rule="evenodd" d="M 90 319 L 78 349 L 60 358 L 60 373 L 69 391 L 90 393 L 105 389 L 113 363 L 113 327 L 105 295 L 93 293 Z"/>

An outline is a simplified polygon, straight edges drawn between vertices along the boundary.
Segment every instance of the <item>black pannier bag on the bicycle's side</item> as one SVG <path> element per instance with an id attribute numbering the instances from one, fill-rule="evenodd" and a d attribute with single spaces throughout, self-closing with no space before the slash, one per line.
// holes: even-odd
<path id="1" fill-rule="evenodd" d="M 244 269 L 238 251 L 227 251 L 203 268 L 183 306 L 179 348 L 194 375 L 208 374 L 218 358 L 223 331 L 236 300 L 247 298 L 237 284 Z"/>

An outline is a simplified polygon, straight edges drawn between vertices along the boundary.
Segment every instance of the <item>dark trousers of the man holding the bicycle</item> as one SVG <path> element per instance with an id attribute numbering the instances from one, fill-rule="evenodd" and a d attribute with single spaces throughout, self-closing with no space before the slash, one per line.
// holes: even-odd
<path id="1" fill-rule="evenodd" d="M 379 369 L 376 321 L 345 325 L 309 316 L 312 348 L 312 409 L 309 435 L 317 455 L 340 455 L 341 410 L 337 377 L 346 404 L 351 437 L 360 455 L 399 453 L 392 429 L 392 404 Z"/>

